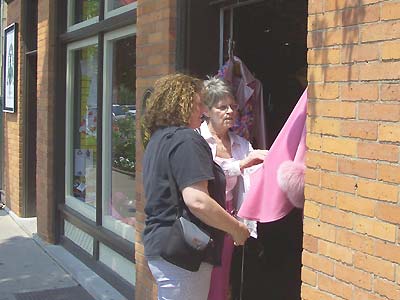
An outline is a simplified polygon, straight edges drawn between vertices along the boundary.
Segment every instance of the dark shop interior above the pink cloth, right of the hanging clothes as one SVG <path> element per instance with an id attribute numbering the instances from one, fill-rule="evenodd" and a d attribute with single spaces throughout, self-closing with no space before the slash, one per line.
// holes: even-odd
<path id="1" fill-rule="evenodd" d="M 263 83 L 270 146 L 305 86 L 307 1 L 263 1 L 234 10 L 237 55 Z"/>

